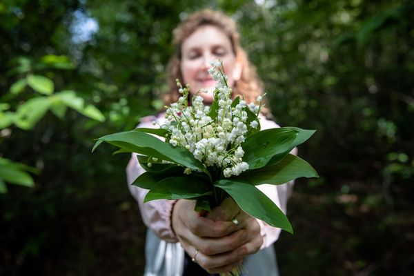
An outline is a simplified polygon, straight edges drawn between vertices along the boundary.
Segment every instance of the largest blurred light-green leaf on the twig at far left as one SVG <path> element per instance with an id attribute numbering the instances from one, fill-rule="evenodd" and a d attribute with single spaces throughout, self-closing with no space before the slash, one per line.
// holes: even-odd
<path id="1" fill-rule="evenodd" d="M 49 107 L 49 97 L 32 98 L 17 108 L 13 118 L 14 124 L 19 128 L 29 130 L 48 112 Z"/>

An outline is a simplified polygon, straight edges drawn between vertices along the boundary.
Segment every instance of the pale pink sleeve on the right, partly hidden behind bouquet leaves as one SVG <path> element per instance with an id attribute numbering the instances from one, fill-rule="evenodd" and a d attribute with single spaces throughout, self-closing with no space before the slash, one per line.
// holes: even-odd
<path id="1" fill-rule="evenodd" d="M 260 125 L 262 130 L 268 128 L 279 128 L 275 122 L 264 119 L 263 117 L 260 120 Z M 297 148 L 294 148 L 290 153 L 297 155 Z M 265 195 L 272 199 L 272 201 L 275 202 L 280 210 L 286 214 L 286 205 L 290 194 L 292 193 L 293 184 L 294 181 L 289 181 L 283 185 L 262 184 L 257 186 L 257 188 L 259 188 L 259 190 L 261 190 Z M 257 219 L 257 222 L 259 222 L 261 228 L 260 234 L 263 237 L 262 248 L 266 248 L 276 242 L 282 229 L 270 226 L 266 224 L 266 222 L 259 219 Z"/>

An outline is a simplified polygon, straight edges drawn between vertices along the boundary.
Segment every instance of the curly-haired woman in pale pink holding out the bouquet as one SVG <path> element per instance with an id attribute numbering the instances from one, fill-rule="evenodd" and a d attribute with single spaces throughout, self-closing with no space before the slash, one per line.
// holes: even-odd
<path id="1" fill-rule="evenodd" d="M 211 10 L 196 12 L 175 29 L 174 43 L 177 52 L 169 66 L 171 92 L 167 103 L 179 97 L 175 79 L 188 83 L 192 94 L 200 89 L 208 90 L 201 96 L 204 103 L 211 103 L 215 81 L 208 75 L 208 68 L 213 59 L 223 62 L 233 97 L 244 95 L 246 101 L 254 101 L 261 94 L 255 70 L 239 44 L 233 19 Z M 162 124 L 163 116 L 146 118 L 140 126 L 150 127 L 154 119 Z M 261 125 L 262 129 L 277 127 L 264 117 Z M 142 172 L 137 158 L 132 156 L 127 168 L 128 182 L 132 183 Z M 290 184 L 259 188 L 279 208 L 286 210 Z M 195 213 L 193 200 L 161 199 L 143 204 L 147 190 L 130 186 L 130 192 L 139 202 L 142 219 L 149 228 L 146 275 L 225 273 L 242 262 L 250 275 L 278 275 L 270 245 L 279 236 L 280 229 L 250 217 L 233 200 L 224 201 L 204 216 Z"/>

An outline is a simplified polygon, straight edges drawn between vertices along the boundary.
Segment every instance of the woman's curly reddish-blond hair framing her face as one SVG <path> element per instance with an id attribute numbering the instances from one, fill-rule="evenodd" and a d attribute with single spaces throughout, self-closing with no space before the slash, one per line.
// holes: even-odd
<path id="1" fill-rule="evenodd" d="M 168 86 L 170 92 L 165 99 L 166 103 L 172 103 L 179 98 L 176 79 L 179 79 L 185 85 L 180 68 L 181 44 L 197 28 L 205 25 L 215 26 L 227 35 L 236 60 L 242 63 L 242 75 L 238 81 L 235 81 L 233 97 L 242 97 L 244 95 L 247 102 L 255 101 L 256 97 L 262 94 L 262 82 L 257 77 L 255 67 L 248 61 L 248 56 L 240 45 L 239 32 L 237 32 L 235 21 L 221 12 L 201 10 L 191 14 L 172 33 L 176 50 L 168 64 Z"/>

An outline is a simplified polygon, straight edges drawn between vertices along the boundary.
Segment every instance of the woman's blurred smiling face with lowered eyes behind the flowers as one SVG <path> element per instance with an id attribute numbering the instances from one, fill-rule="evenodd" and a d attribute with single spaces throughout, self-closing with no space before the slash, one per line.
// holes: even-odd
<path id="1" fill-rule="evenodd" d="M 201 26 L 181 44 L 181 74 L 184 83 L 190 85 L 192 95 L 200 89 L 208 90 L 208 93 L 200 94 L 206 103 L 213 101 L 216 83 L 208 74 L 213 59 L 223 61 L 228 86 L 233 88 L 242 73 L 242 65 L 236 61 L 230 39 L 222 30 L 212 25 Z"/>

